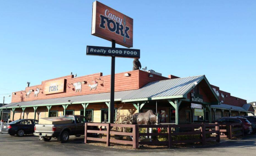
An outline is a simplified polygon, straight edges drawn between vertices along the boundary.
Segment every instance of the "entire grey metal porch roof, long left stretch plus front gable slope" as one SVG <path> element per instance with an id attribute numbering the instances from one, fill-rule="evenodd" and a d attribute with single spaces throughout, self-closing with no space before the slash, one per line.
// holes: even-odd
<path id="1" fill-rule="evenodd" d="M 169 80 L 154 81 L 148 83 L 140 89 L 130 90 L 130 91 L 120 91 L 115 92 L 115 101 L 125 100 L 135 100 L 141 98 L 154 98 L 160 97 L 162 99 L 173 97 L 185 97 L 190 89 L 199 83 L 205 76 L 194 76 L 186 78 L 177 78 Z M 2 108 L 12 108 L 20 106 L 40 106 L 40 105 L 58 105 L 58 104 L 72 104 L 78 103 L 97 103 L 97 102 L 109 102 L 110 93 L 99 93 L 99 94 L 89 94 L 89 95 L 79 95 L 70 97 L 59 97 L 59 98 L 49 98 L 44 100 L 34 100 L 25 102 L 13 102 L 4 105 Z"/>

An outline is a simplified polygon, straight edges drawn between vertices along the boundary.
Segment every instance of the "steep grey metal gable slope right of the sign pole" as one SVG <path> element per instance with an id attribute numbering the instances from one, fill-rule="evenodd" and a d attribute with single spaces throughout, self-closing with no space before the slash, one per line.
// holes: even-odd
<path id="1" fill-rule="evenodd" d="M 154 81 L 144 87 L 134 90 L 131 94 L 122 98 L 122 100 L 133 100 L 153 97 L 170 97 L 185 95 L 190 89 L 204 78 L 202 76 L 177 78 L 169 80 Z"/>

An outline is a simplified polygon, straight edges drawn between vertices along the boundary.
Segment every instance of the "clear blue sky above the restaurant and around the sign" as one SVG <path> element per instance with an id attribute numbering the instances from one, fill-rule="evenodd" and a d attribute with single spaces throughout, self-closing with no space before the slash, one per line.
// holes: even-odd
<path id="1" fill-rule="evenodd" d="M 86 45 L 111 46 L 91 35 L 92 2 L 0 2 L 0 103 L 27 81 L 38 85 L 70 71 L 110 74 L 110 58 L 86 56 Z M 133 18 L 143 67 L 163 76 L 206 75 L 223 91 L 256 101 L 256 1 L 100 2 Z M 132 70 L 132 61 L 117 58 L 116 73 Z"/>

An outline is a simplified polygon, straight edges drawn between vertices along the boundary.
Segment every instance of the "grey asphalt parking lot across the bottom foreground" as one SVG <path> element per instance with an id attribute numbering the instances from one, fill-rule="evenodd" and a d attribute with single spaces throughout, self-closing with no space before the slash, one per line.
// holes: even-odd
<path id="1" fill-rule="evenodd" d="M 38 137 L 0 134 L 0 155 L 253 155 L 256 152 L 256 135 L 243 139 L 222 141 L 219 145 L 195 149 L 121 150 L 83 143 L 83 137 L 70 137 L 65 144 L 52 139 L 38 141 Z"/>

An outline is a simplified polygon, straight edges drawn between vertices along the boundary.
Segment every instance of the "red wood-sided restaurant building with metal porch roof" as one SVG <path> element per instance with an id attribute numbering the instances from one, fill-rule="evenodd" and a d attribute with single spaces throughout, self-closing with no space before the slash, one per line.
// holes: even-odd
<path id="1" fill-rule="evenodd" d="M 110 75 L 68 75 L 14 92 L 10 120 L 65 114 L 84 115 L 91 122 L 109 121 Z M 121 109 L 119 109 L 121 108 Z M 119 110 L 118 110 L 119 109 Z M 213 122 L 225 116 L 254 113 L 251 104 L 209 83 L 204 75 L 179 78 L 133 70 L 115 74 L 115 110 L 161 114 L 161 122 Z"/>

